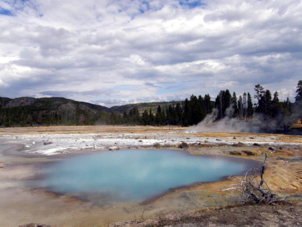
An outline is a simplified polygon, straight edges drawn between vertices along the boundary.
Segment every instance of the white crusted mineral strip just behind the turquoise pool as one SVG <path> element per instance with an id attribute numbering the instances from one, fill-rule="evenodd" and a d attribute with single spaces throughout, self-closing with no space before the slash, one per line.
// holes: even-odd
<path id="1" fill-rule="evenodd" d="M 110 130 L 110 128 L 107 128 Z M 121 127 L 121 130 L 125 128 Z M 130 128 L 132 129 L 132 128 Z M 161 128 L 159 128 L 161 129 Z M 168 128 L 167 128 L 168 129 Z M 178 128 L 177 128 L 178 129 Z M 22 129 L 20 129 L 22 130 Z M 226 133 L 224 133 L 226 134 Z M 235 134 L 235 133 L 234 133 Z M 215 134 L 214 134 L 215 135 Z M 251 139 L 252 138 L 252 139 Z M 154 144 L 162 147 L 178 147 L 182 142 L 191 145 L 232 145 L 242 143 L 241 146 L 251 146 L 255 143 L 266 146 L 300 146 L 302 138 L 296 139 L 300 143 L 286 143 L 278 140 L 275 135 L 250 137 L 245 133 L 240 137 L 210 137 L 202 133 L 188 133 L 184 130 L 168 129 L 165 132 L 101 132 L 101 133 L 52 133 L 52 134 L 16 134 L 0 135 L 0 144 L 22 144 L 25 153 L 40 153 L 56 155 L 79 150 L 108 149 L 110 146 L 119 148 L 152 147 Z M 300 140 L 300 141 L 299 141 Z"/>

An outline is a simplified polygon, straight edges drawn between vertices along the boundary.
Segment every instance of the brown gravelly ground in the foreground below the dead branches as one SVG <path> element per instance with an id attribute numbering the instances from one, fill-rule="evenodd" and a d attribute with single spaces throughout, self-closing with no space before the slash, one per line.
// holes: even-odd
<path id="1" fill-rule="evenodd" d="M 110 227 L 301 227 L 301 214 L 302 206 L 240 206 L 116 222 Z"/>

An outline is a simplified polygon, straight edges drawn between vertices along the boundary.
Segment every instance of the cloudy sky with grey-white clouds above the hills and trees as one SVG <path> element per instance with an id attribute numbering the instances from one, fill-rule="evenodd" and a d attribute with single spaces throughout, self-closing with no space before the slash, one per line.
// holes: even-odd
<path id="1" fill-rule="evenodd" d="M 0 96 L 105 106 L 260 83 L 294 101 L 301 0 L 0 0 Z"/>

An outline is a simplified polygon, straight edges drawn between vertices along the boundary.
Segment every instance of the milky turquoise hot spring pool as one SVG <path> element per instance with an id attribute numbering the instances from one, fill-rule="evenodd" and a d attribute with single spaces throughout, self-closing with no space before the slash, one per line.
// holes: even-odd
<path id="1" fill-rule="evenodd" d="M 250 162 L 176 150 L 102 151 L 51 165 L 37 186 L 97 201 L 143 201 L 169 188 L 241 174 Z"/>

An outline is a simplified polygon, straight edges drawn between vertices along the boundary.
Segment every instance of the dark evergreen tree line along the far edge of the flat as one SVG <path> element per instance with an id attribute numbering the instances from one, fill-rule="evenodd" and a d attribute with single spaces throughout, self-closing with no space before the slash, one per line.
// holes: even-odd
<path id="1" fill-rule="evenodd" d="M 261 84 L 256 84 L 253 103 L 249 92 L 239 95 L 228 89 L 221 90 L 215 102 L 211 101 L 209 94 L 202 97 L 191 95 L 182 102 L 173 102 L 168 108 L 163 109 L 158 105 L 153 113 L 151 108 L 145 108 L 140 114 L 137 107 L 123 114 L 108 113 L 101 108 L 92 110 L 77 103 L 74 108 L 60 106 L 26 105 L 19 107 L 0 108 L 0 125 L 29 126 L 29 125 L 182 125 L 189 126 L 203 121 L 213 109 L 217 110 L 216 121 L 225 117 L 239 120 L 251 120 L 257 116 L 263 123 L 274 121 L 277 125 L 288 127 L 297 117 L 302 117 L 302 81 L 298 82 L 296 102 L 280 102 L 278 92 L 273 96 Z M 214 104 L 213 104 L 214 103 Z M 296 110 L 296 115 L 293 114 Z M 255 115 L 256 114 L 256 115 Z"/>

